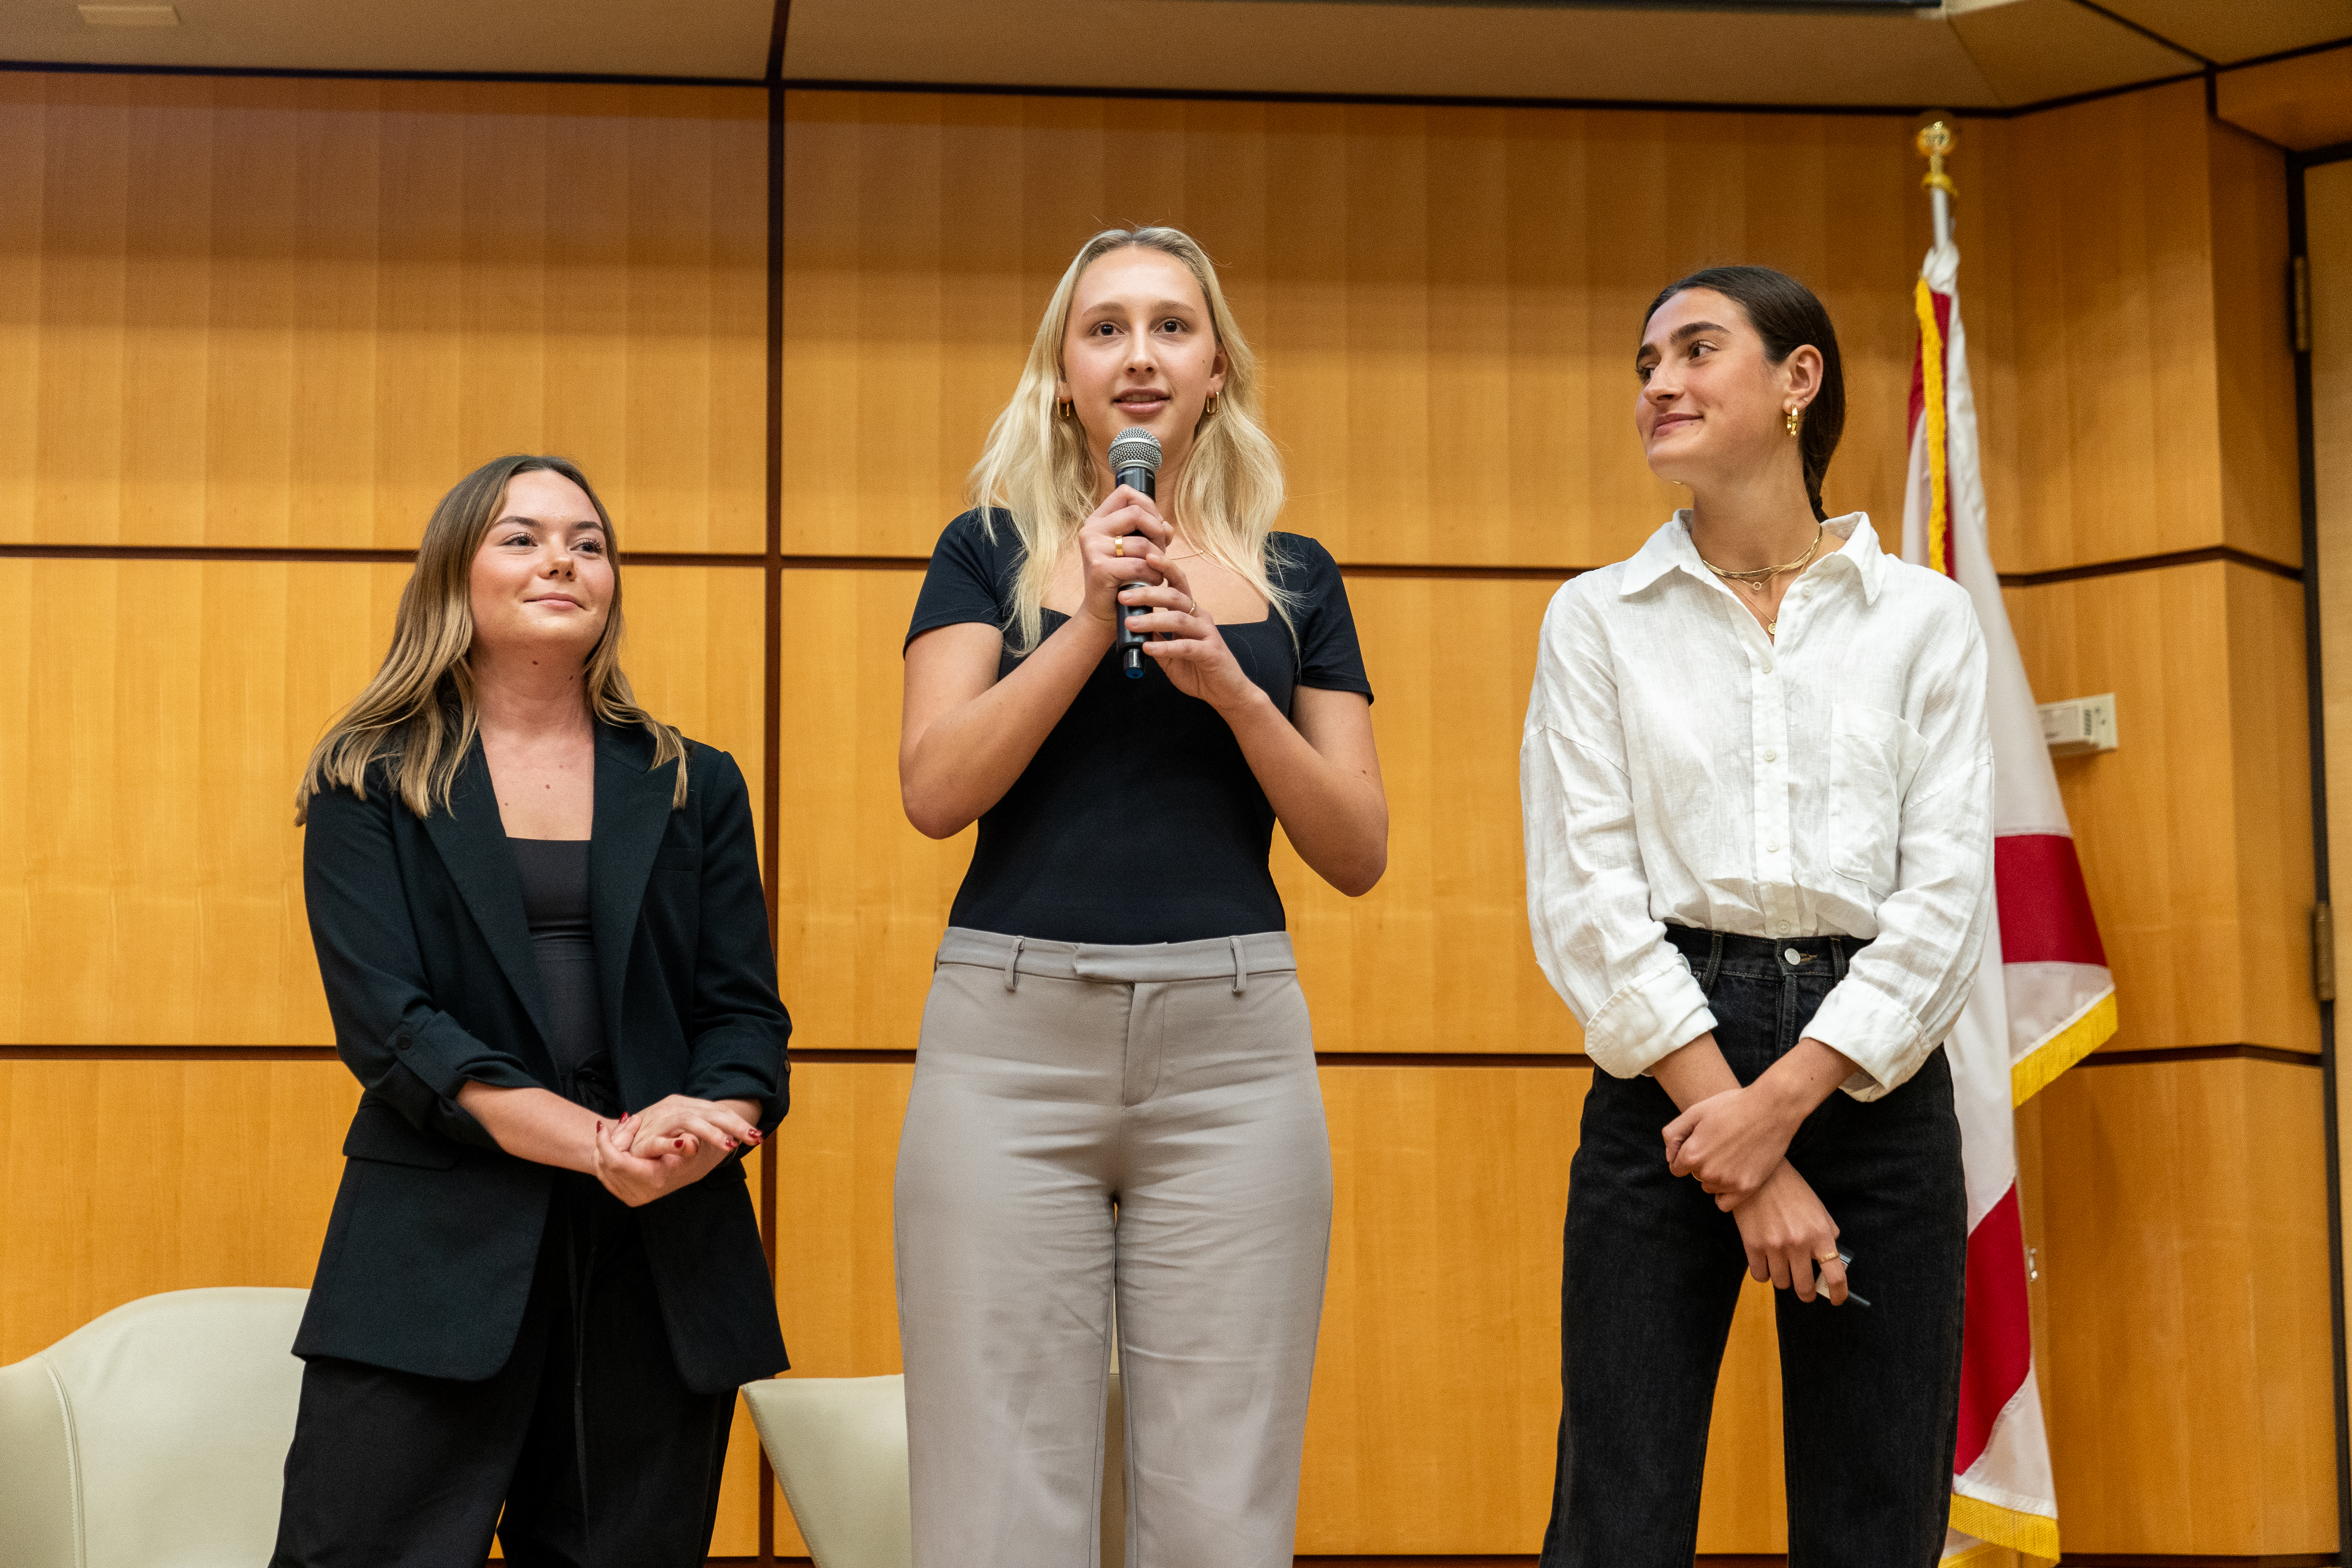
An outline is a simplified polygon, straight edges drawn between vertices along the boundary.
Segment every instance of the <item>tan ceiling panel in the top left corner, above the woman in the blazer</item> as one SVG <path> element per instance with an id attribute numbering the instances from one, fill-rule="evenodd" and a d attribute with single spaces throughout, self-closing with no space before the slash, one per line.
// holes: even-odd
<path id="1" fill-rule="evenodd" d="M 176 28 L 99 28 L 73 0 L 0 2 L 0 59 L 306 71 L 767 71 L 771 0 L 176 0 Z"/>

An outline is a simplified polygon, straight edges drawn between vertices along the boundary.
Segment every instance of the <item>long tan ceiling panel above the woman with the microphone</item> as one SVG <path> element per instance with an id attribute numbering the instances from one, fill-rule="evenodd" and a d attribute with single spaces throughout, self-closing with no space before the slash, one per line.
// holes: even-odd
<path id="1" fill-rule="evenodd" d="M 1943 12 L 795 0 L 783 68 L 870 82 L 1891 108 L 1994 108 L 2194 68 L 2074 0 L 1947 9 L 1969 12 L 1966 33 Z"/>

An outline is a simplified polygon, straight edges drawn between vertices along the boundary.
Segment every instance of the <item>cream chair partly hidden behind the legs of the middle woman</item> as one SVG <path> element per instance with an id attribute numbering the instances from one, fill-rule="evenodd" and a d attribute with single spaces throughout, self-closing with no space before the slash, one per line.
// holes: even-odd
<path id="1" fill-rule="evenodd" d="M 906 1378 L 746 1382 L 750 1420 L 816 1568 L 913 1568 Z M 1127 1561 L 1127 1406 L 1110 1368 L 1103 1427 L 1103 1568 Z"/>

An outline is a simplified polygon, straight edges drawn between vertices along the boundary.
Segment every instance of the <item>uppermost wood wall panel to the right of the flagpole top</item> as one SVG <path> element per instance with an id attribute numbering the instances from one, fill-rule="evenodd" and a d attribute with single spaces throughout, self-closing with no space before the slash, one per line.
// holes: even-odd
<path id="1" fill-rule="evenodd" d="M 1987 341 L 2006 421 L 1987 461 L 2013 468 L 2013 489 L 1987 487 L 1992 559 L 2049 571 L 2234 545 L 2300 562 L 2293 444 L 2263 428 L 2293 395 L 2265 336 L 2284 287 L 2279 155 L 2211 122 L 2197 82 L 1985 141 L 1992 167 L 1962 179 L 1992 183 L 1973 200 L 2004 207 L 2013 268 L 2011 320 Z"/>

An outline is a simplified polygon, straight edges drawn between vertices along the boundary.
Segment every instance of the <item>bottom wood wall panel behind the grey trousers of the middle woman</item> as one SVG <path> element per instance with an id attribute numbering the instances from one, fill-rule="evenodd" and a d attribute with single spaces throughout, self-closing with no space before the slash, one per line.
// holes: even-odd
<path id="1" fill-rule="evenodd" d="M 1305 976 L 1312 987 L 1315 976 Z M 1324 1067 L 1336 1208 L 1298 1549 L 1534 1552 L 1559 1420 L 1559 1225 L 1588 1070 Z M 891 1171 L 913 1067 L 804 1063 L 774 1140 L 793 1373 L 898 1371 Z M 1461 1150 L 1482 1159 L 1461 1159 Z M 1769 1293 L 1724 1371 L 1700 1549 L 1778 1552 Z M 800 1552 L 779 1493 L 776 1552 Z"/>

